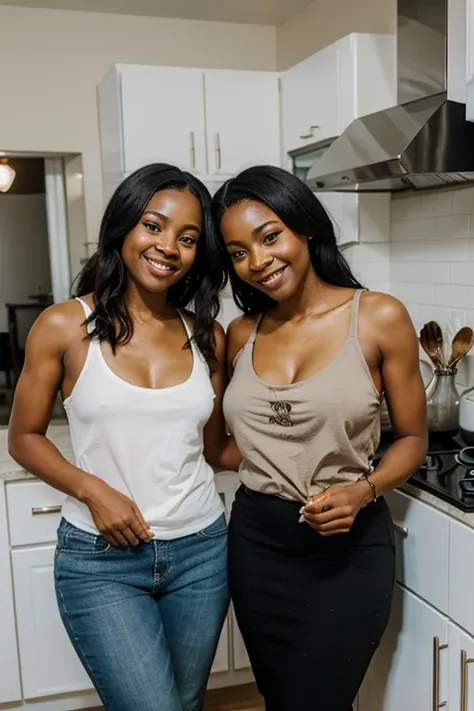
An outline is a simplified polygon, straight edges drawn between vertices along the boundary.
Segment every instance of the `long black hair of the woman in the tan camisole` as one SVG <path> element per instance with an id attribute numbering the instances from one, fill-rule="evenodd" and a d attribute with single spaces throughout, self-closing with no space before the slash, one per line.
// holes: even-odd
<path id="1" fill-rule="evenodd" d="M 216 246 L 220 250 L 226 279 L 230 279 L 235 303 L 244 313 L 260 314 L 276 306 L 269 296 L 239 279 L 220 234 L 225 211 L 246 200 L 264 203 L 290 230 L 312 238 L 308 241 L 311 264 L 321 281 L 333 286 L 361 288 L 337 247 L 331 219 L 306 183 L 282 168 L 255 166 L 224 183 L 212 200 L 212 216 L 218 236 Z"/>

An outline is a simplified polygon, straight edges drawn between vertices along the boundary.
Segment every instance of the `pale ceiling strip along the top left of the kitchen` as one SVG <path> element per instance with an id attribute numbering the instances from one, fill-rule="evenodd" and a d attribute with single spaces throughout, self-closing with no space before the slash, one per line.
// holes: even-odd
<path id="1" fill-rule="evenodd" d="M 311 0 L 0 0 L 0 5 L 280 25 Z"/>

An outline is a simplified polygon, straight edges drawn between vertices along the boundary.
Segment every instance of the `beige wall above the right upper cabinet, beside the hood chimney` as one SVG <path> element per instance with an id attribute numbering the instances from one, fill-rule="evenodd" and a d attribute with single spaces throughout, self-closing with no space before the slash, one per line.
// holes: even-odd
<path id="1" fill-rule="evenodd" d="M 351 32 L 396 32 L 396 0 L 313 0 L 277 28 L 278 69 L 288 69 Z"/>

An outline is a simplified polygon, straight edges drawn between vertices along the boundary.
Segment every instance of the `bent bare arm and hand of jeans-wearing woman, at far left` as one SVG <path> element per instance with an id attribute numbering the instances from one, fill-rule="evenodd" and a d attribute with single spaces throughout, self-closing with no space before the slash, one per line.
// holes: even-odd
<path id="1" fill-rule="evenodd" d="M 64 375 L 64 356 L 84 320 L 77 304 L 44 311 L 28 335 L 8 431 L 10 455 L 50 486 L 84 502 L 112 545 L 137 545 L 152 535 L 134 502 L 74 466 L 46 437 Z M 120 529 L 120 530 L 119 530 Z"/>

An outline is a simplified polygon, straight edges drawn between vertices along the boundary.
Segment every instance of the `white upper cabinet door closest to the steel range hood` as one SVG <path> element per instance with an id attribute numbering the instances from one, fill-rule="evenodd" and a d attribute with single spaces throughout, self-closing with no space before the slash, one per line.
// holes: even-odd
<path id="1" fill-rule="evenodd" d="M 325 47 L 281 75 L 283 149 L 337 135 L 338 48 Z"/>

